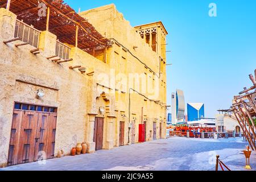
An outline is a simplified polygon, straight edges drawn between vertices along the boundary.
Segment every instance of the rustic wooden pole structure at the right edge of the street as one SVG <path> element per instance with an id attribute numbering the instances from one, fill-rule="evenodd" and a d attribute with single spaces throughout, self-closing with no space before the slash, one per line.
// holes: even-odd
<path id="1" fill-rule="evenodd" d="M 256 69 L 254 76 L 249 75 L 249 77 L 253 86 L 249 89 L 243 88 L 239 96 L 234 96 L 234 103 L 229 111 L 234 113 L 251 149 L 256 150 L 256 127 L 254 123 L 256 118 Z"/>

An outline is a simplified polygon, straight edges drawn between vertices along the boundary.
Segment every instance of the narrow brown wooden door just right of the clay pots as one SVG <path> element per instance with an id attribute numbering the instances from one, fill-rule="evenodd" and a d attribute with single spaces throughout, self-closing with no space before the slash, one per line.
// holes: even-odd
<path id="1" fill-rule="evenodd" d="M 93 137 L 93 142 L 95 142 L 95 150 L 101 150 L 103 147 L 103 127 L 104 118 L 95 118 Z"/>

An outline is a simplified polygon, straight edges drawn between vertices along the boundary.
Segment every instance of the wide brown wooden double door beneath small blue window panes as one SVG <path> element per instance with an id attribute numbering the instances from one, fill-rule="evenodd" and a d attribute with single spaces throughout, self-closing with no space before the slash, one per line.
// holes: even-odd
<path id="1" fill-rule="evenodd" d="M 57 113 L 14 110 L 8 165 L 54 157 Z"/>

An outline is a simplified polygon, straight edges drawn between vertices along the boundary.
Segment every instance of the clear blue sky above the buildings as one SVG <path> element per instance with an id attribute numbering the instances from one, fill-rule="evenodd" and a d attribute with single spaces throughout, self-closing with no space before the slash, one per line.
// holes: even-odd
<path id="1" fill-rule="evenodd" d="M 66 0 L 81 11 L 114 3 L 131 26 L 162 20 L 167 37 L 167 98 L 181 89 L 185 102 L 204 102 L 205 116 L 227 109 L 256 68 L 255 0 Z M 216 3 L 217 17 L 208 15 Z"/>

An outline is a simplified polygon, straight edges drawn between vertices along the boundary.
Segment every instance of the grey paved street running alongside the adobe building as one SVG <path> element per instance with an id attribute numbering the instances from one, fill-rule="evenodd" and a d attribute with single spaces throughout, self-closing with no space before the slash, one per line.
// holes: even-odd
<path id="1" fill-rule="evenodd" d="M 187 139 L 169 138 L 151 142 L 101 150 L 94 154 L 66 156 L 47 160 L 46 164 L 30 163 L 0 170 L 166 170 L 195 171 L 214 170 L 216 158 L 232 171 L 243 170 L 245 156 L 242 150 L 246 143 L 242 138 Z M 256 154 L 251 158 L 251 167 L 256 169 Z"/>

